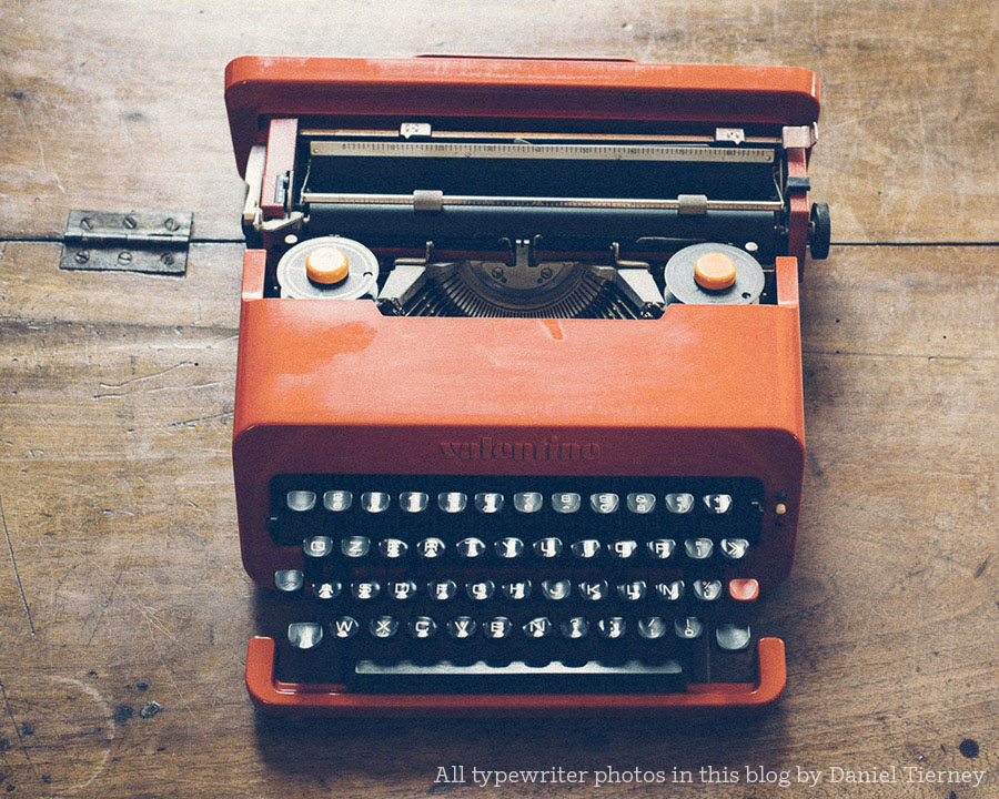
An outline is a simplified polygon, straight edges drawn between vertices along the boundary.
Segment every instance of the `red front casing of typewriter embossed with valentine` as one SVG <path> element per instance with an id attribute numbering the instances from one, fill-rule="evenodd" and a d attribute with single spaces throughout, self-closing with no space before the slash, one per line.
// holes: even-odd
<path id="1" fill-rule="evenodd" d="M 301 568 L 265 528 L 279 474 L 759 477 L 751 574 L 788 573 L 804 471 L 797 264 L 776 305 L 680 305 L 655 321 L 407 318 L 371 302 L 263 297 L 244 257 L 233 423 L 243 564 Z M 592 443 L 591 461 L 460 459 L 448 442 Z M 780 494 L 780 497 L 778 497 Z M 777 516 L 775 507 L 786 513 Z"/>

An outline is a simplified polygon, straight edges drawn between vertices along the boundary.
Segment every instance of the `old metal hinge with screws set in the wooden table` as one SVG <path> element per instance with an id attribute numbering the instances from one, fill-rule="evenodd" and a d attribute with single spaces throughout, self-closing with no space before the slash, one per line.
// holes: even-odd
<path id="1" fill-rule="evenodd" d="M 184 274 L 191 213 L 70 211 L 60 269 Z"/>

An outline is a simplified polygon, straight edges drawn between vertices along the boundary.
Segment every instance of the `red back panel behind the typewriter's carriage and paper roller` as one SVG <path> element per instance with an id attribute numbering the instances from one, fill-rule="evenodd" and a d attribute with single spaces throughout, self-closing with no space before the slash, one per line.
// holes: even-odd
<path id="1" fill-rule="evenodd" d="M 225 68 L 240 174 L 272 117 L 509 118 L 809 125 L 815 72 L 599 59 L 242 57 Z"/>

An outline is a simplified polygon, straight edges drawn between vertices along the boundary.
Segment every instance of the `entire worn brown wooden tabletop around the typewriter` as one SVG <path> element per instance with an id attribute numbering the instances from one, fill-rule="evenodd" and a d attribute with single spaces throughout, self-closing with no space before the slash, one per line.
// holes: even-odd
<path id="1" fill-rule="evenodd" d="M 977 0 L 4 2 L 6 795 L 999 796 L 997 41 L 999 6 Z M 775 714 L 289 722 L 252 710 L 242 670 L 260 597 L 239 560 L 229 455 L 243 189 L 223 68 L 243 53 L 420 51 L 823 77 L 811 176 L 835 246 L 803 286 L 808 464 L 798 559 L 767 604 L 788 643 Z M 59 271 L 70 209 L 193 211 L 186 276 Z M 435 781 L 452 763 L 468 783 Z M 471 783 L 473 767 L 559 766 L 589 775 Z M 708 766 L 740 781 L 705 786 Z M 977 787 L 829 779 L 892 766 L 900 780 L 985 775 Z M 594 781 L 674 767 L 695 783 Z M 747 767 L 793 783 L 747 785 Z M 799 785 L 799 767 L 823 781 Z"/>

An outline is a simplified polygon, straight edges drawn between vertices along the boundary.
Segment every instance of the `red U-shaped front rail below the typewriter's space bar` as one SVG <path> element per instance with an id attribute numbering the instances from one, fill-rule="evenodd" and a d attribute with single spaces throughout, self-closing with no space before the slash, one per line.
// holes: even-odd
<path id="1" fill-rule="evenodd" d="M 273 638 L 246 648 L 246 689 L 256 707 L 289 716 L 599 716 L 746 712 L 771 706 L 784 691 L 784 641 L 760 638 L 759 681 L 693 685 L 683 694 L 349 694 L 340 686 L 281 682 Z"/>

